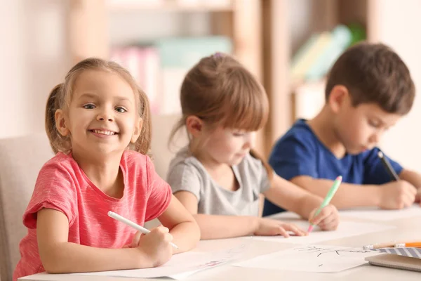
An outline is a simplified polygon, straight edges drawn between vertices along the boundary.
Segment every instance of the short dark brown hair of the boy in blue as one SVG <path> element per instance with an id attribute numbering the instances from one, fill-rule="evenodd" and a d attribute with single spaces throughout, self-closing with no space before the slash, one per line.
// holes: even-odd
<path id="1" fill-rule="evenodd" d="M 375 103 L 399 115 L 410 111 L 415 97 L 408 67 L 384 44 L 362 42 L 342 53 L 328 75 L 326 100 L 336 85 L 347 87 L 354 106 Z"/>

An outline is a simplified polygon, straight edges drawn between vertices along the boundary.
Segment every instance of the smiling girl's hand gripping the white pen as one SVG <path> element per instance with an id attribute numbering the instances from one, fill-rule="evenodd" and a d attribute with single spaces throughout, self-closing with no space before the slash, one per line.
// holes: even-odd
<path id="1" fill-rule="evenodd" d="M 171 259 L 173 247 L 170 242 L 173 240 L 173 235 L 169 233 L 168 228 L 158 226 L 150 233 L 139 237 L 138 249 L 145 253 L 151 267 L 161 266 Z"/>

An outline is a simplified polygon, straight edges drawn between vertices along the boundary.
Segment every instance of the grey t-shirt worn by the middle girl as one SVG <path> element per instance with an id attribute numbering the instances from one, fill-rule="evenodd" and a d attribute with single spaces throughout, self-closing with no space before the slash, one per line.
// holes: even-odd
<path id="1" fill-rule="evenodd" d="M 259 194 L 270 185 L 265 166 L 248 153 L 232 170 L 239 182 L 236 191 L 222 188 L 213 181 L 201 162 L 185 147 L 171 160 L 167 182 L 173 193 L 183 190 L 196 196 L 198 214 L 258 216 Z"/>

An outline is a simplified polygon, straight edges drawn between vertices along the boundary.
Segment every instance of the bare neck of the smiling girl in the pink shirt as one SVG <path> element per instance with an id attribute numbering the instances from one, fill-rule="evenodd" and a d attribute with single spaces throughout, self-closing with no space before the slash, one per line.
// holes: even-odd
<path id="1" fill-rule="evenodd" d="M 123 174 L 120 171 L 122 153 L 95 157 L 83 152 L 72 151 L 72 157 L 79 164 L 89 180 L 105 194 L 121 198 L 123 196 Z"/>

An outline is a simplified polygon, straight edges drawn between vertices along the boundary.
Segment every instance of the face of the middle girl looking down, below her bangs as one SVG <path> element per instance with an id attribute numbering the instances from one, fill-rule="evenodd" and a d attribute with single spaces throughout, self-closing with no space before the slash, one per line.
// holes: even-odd
<path id="1" fill-rule="evenodd" d="M 214 162 L 232 166 L 239 164 L 250 152 L 250 148 L 253 148 L 255 131 L 224 129 L 218 126 L 209 133 L 204 133 L 203 137 L 205 142 L 201 149 L 202 154 Z"/>

